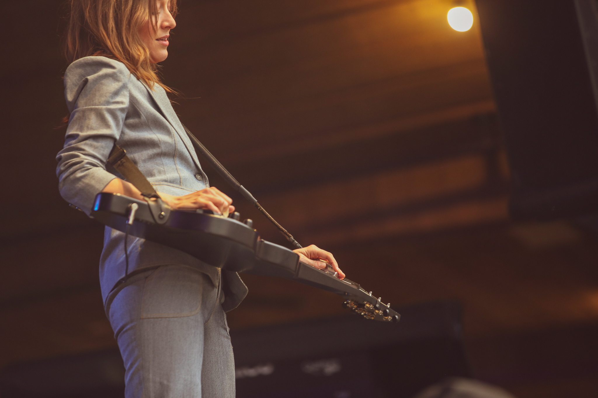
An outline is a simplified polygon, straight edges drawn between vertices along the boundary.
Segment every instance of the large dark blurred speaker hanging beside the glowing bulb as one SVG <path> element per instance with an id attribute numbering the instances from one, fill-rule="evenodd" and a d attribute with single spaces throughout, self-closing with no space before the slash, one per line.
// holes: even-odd
<path id="1" fill-rule="evenodd" d="M 596 0 L 477 0 L 515 219 L 598 212 Z"/>

